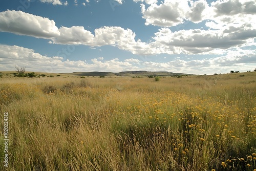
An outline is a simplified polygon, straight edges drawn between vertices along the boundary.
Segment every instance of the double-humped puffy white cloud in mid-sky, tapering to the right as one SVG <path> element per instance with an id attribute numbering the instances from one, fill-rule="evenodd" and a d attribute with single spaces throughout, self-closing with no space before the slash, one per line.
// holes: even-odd
<path id="1" fill-rule="evenodd" d="M 83 27 L 61 27 L 60 35 L 53 38 L 50 43 L 67 45 L 86 45 L 100 47 L 111 45 L 121 50 L 130 51 L 133 54 L 153 54 L 154 49 L 140 40 L 135 40 L 135 33 L 130 29 L 121 27 L 101 27 L 95 29 L 95 35 Z"/>

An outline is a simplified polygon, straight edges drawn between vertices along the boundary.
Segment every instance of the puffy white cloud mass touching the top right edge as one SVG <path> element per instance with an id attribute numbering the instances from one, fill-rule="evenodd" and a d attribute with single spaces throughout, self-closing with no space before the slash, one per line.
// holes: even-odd
<path id="1" fill-rule="evenodd" d="M 134 2 L 142 3 L 144 1 L 134 0 Z M 256 13 L 255 1 L 252 0 L 218 0 L 211 4 L 205 0 L 164 0 L 160 5 L 156 4 L 157 1 L 149 0 L 145 3 L 150 4 L 148 8 L 141 4 L 145 25 L 161 27 L 177 26 L 187 20 L 194 23 L 200 23 L 207 19 L 233 23 L 232 19 L 241 20 L 245 18 L 245 15 Z M 237 17 L 233 17 L 234 15 Z"/>

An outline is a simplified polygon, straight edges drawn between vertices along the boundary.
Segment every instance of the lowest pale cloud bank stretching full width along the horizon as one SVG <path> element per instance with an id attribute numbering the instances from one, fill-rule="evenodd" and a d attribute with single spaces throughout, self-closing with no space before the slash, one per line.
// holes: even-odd
<path id="1" fill-rule="evenodd" d="M 60 56 L 47 57 L 32 49 L 0 45 L 0 68 L 4 71 L 14 70 L 15 65 L 27 68 L 27 71 L 38 72 L 75 72 L 75 71 L 169 71 L 191 74 L 227 73 L 230 70 L 245 72 L 253 70 L 256 64 L 256 50 L 233 49 L 226 55 L 185 61 L 170 59 L 167 62 L 140 61 L 135 58 L 120 60 L 118 58 L 103 60 L 103 57 L 91 59 L 90 62 L 78 60 L 62 61 Z"/>

